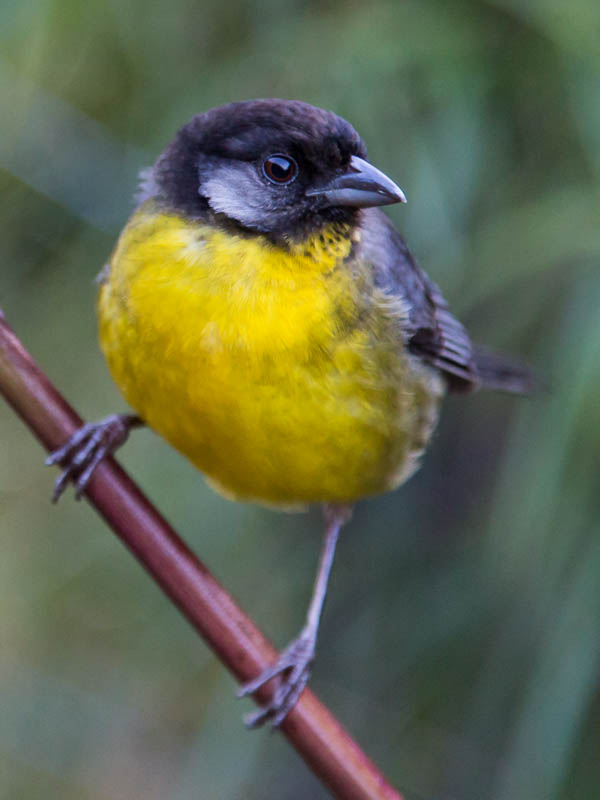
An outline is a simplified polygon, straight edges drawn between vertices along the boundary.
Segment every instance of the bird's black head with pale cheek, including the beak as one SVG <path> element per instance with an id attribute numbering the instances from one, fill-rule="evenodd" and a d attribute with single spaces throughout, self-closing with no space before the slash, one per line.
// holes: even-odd
<path id="1" fill-rule="evenodd" d="M 330 111 L 291 100 L 231 103 L 179 130 L 143 196 L 192 218 L 303 237 L 352 222 L 360 207 L 404 200 L 366 155 L 354 128 Z"/>

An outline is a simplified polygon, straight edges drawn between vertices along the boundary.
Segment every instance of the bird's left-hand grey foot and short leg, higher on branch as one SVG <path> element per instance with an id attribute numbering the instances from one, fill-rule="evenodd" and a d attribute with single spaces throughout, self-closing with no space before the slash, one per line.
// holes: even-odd
<path id="1" fill-rule="evenodd" d="M 131 428 L 140 425 L 144 422 L 136 414 L 111 414 L 99 422 L 88 422 L 75 431 L 46 459 L 47 466 L 60 464 L 63 467 L 54 484 L 52 502 L 56 503 L 69 481 L 75 483 L 75 497 L 79 500 L 98 464 L 124 444 Z"/>

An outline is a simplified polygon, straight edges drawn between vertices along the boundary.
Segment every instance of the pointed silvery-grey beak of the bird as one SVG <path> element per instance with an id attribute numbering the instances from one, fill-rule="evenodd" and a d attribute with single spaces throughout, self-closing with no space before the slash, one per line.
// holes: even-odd
<path id="1" fill-rule="evenodd" d="M 328 206 L 388 206 L 406 203 L 404 192 L 387 175 L 368 161 L 352 156 L 348 169 L 323 186 L 309 189 L 309 197 L 318 197 Z"/>

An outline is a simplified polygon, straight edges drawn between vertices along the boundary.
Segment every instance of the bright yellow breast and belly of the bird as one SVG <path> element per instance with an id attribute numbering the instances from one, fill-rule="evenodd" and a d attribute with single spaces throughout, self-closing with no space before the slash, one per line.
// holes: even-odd
<path id="1" fill-rule="evenodd" d="M 99 297 L 109 367 L 223 493 L 351 502 L 416 468 L 442 382 L 349 249 L 331 231 L 289 252 L 148 204 L 123 232 Z"/>

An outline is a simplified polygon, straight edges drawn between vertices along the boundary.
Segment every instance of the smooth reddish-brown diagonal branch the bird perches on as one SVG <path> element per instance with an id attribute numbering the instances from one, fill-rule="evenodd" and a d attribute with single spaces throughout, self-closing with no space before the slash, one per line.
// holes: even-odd
<path id="1" fill-rule="evenodd" d="M 0 393 L 48 450 L 81 425 L 1 311 Z M 272 645 L 113 459 L 98 467 L 86 497 L 238 680 L 248 681 L 273 662 Z M 259 699 L 266 701 L 270 691 L 264 687 Z M 282 731 L 336 797 L 402 800 L 309 690 Z"/>

